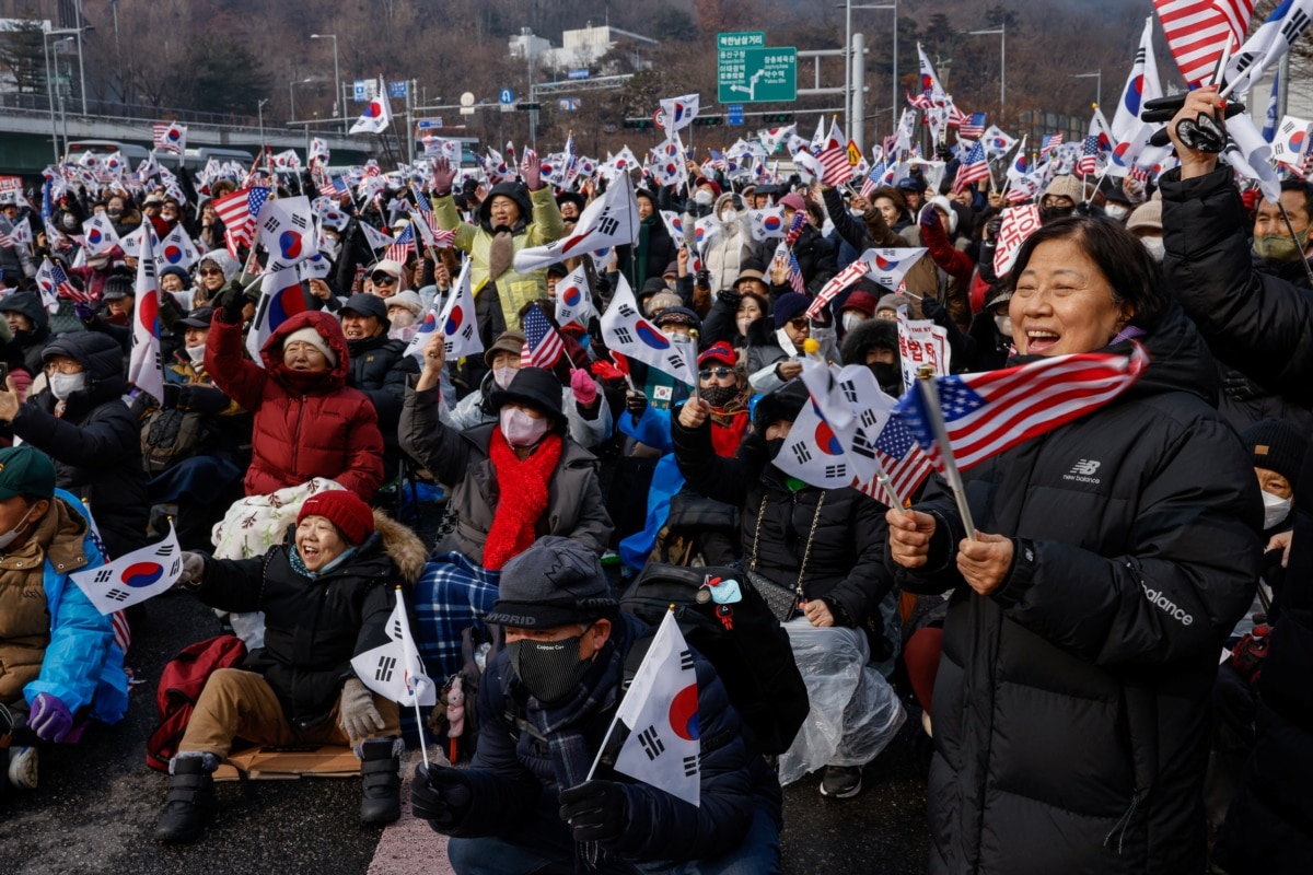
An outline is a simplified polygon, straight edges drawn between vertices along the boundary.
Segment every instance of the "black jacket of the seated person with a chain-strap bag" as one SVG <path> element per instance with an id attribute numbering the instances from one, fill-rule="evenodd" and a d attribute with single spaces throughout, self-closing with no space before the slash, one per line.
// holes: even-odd
<path id="1" fill-rule="evenodd" d="M 733 459 L 716 455 L 708 422 L 685 429 L 678 415 L 671 416 L 671 437 L 684 480 L 710 499 L 741 508 L 744 568 L 751 565 L 752 543 L 758 542 L 756 571 L 792 589 L 806 556 L 802 593 L 822 600 L 836 626 L 863 626 L 878 613 L 880 601 L 893 586 L 882 559 L 889 537 L 885 505 L 852 488 L 789 489 L 756 433 L 743 438 Z M 825 504 L 817 513 L 822 497 Z M 815 535 L 807 555 L 813 522 Z"/>

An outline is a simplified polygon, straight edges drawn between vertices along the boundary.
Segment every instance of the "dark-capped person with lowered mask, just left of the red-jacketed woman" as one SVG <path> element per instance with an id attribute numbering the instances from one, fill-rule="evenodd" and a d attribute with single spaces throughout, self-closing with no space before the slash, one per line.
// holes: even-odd
<path id="1" fill-rule="evenodd" d="M 209 547 L 214 523 L 244 493 L 242 475 L 251 460 L 251 416 L 205 370 L 213 321 L 214 307 L 197 307 L 177 321 L 183 349 L 164 369 L 163 409 L 142 429 L 151 505 L 177 505 L 173 522 L 184 550 Z"/>

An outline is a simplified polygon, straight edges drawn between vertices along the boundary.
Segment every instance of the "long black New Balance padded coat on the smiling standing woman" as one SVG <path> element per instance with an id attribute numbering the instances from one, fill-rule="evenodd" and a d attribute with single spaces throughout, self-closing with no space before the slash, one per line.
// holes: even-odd
<path id="1" fill-rule="evenodd" d="M 1088 416 L 965 472 L 976 527 L 1014 539 L 989 597 L 939 525 L 913 592 L 953 589 L 935 680 L 931 872 L 1197 874 L 1209 693 L 1258 575 L 1258 481 L 1173 308 L 1152 362 Z M 1123 342 L 1108 352 L 1129 354 Z"/>

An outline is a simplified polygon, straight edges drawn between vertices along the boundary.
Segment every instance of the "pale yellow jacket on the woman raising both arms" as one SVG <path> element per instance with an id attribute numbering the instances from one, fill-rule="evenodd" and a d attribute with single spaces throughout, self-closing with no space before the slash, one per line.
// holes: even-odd
<path id="1" fill-rule="evenodd" d="M 529 201 L 533 205 L 533 216 L 524 226 L 524 231 L 516 232 L 512 240 L 513 252 L 546 245 L 561 239 L 566 232 L 565 220 L 561 218 L 561 209 L 557 207 L 551 186 L 544 185 L 537 192 L 529 192 Z M 470 253 L 474 260 L 470 266 L 470 289 L 474 291 L 475 299 L 490 281 L 494 282 L 502 300 L 502 314 L 506 316 L 507 329 L 519 331 L 520 307 L 530 300 L 548 296 L 546 268 L 516 273 L 512 265 L 500 277 L 488 277 L 488 252 L 492 247 L 492 234 L 483 226 L 461 222 L 450 194 L 433 202 L 433 219 L 437 222 L 437 227 L 444 231 L 456 231 L 456 248 Z"/>

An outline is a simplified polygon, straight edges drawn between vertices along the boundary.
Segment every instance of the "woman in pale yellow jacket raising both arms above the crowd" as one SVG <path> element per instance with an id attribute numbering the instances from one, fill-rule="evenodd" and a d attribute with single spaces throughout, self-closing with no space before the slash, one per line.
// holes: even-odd
<path id="1" fill-rule="evenodd" d="M 530 152 L 532 155 L 532 152 Z M 456 171 L 441 159 L 433 164 L 433 218 L 444 231 L 456 231 L 456 248 L 470 253 L 470 287 L 483 345 L 508 328 L 520 328 L 519 312 L 530 300 L 548 296 L 546 269 L 520 273 L 515 253 L 541 247 L 565 235 L 561 209 L 551 186 L 542 182 L 536 155 L 520 168 L 524 185 L 500 182 L 479 205 L 478 226 L 461 222 L 452 199 Z"/>

